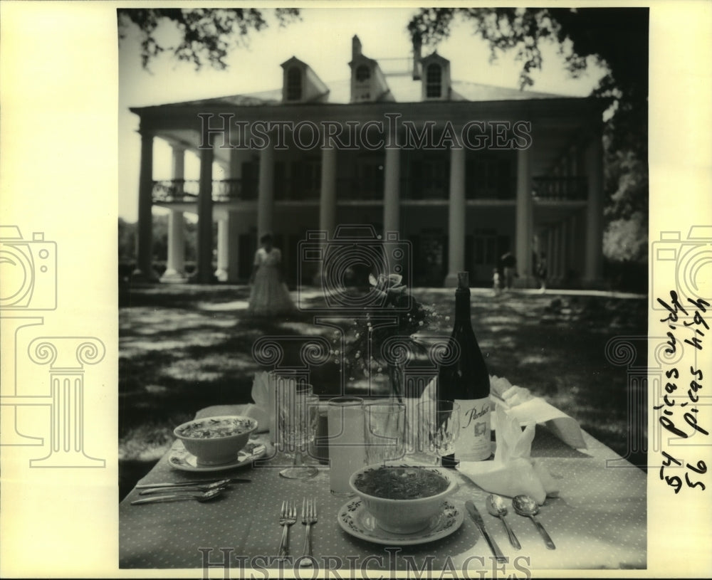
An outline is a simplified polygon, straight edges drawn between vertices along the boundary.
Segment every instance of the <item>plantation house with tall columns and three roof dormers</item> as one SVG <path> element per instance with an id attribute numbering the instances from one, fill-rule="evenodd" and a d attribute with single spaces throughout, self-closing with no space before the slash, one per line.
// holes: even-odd
<path id="1" fill-rule="evenodd" d="M 534 252 L 546 254 L 550 284 L 597 285 L 605 103 L 461 83 L 446 58 L 414 48 L 407 73 L 384 72 L 355 36 L 342 83 L 326 85 L 293 57 L 270 92 L 132 108 L 142 143 L 135 275 L 152 277 L 157 205 L 170 210 L 165 280 L 184 276 L 191 212 L 203 283 L 245 280 L 266 231 L 288 279 L 305 281 L 319 264 L 300 255 L 303 241 L 346 243 L 352 230 L 339 226 L 368 224 L 405 243 L 417 284 L 454 285 L 459 270 L 490 284 L 512 251 L 519 285 L 533 285 Z M 168 181 L 153 179 L 154 139 L 172 147 Z M 184 179 L 186 151 L 199 155 L 197 180 Z"/>

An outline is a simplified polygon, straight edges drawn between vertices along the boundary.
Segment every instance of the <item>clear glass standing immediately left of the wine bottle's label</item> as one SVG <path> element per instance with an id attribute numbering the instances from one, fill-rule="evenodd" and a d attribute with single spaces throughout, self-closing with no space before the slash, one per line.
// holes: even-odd
<path id="1" fill-rule="evenodd" d="M 454 401 L 423 401 L 418 405 L 421 449 L 435 465 L 441 457 L 454 453 L 460 434 L 460 406 Z"/>

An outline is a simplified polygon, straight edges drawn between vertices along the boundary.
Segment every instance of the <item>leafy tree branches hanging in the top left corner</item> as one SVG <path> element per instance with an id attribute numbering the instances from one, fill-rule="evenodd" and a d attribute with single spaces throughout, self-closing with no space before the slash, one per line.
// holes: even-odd
<path id="1" fill-rule="evenodd" d="M 299 10 L 278 8 L 274 14 L 280 26 L 299 18 Z M 141 62 L 150 62 L 169 51 L 178 60 L 194 63 L 196 68 L 208 64 L 219 70 L 226 68 L 225 58 L 232 48 L 246 46 L 252 31 L 268 26 L 265 14 L 258 9 L 117 9 L 119 41 L 132 24 L 141 36 Z M 172 25 L 177 31 L 177 43 L 167 43 L 157 33 L 162 24 Z"/>

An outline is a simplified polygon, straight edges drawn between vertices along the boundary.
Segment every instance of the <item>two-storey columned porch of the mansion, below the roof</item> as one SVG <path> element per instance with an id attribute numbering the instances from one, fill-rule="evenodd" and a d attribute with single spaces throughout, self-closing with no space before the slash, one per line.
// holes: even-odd
<path id="1" fill-rule="evenodd" d="M 471 114 L 467 103 L 449 106 L 455 105 L 459 117 L 437 109 L 442 127 L 450 116 L 464 123 Z M 197 272 L 192 280 L 198 283 L 245 280 L 256 241 L 266 231 L 283 251 L 288 279 L 302 280 L 305 269 L 297 247 L 308 232 L 325 232 L 328 240 L 338 224 L 367 224 L 412 246 L 414 282 L 454 285 L 456 273 L 469 270 L 473 282 L 488 285 L 497 258 L 512 251 L 524 288 L 534 284 L 535 253 L 548 255 L 551 283 L 595 288 L 602 278 L 602 144 L 600 120 L 594 122 L 600 103 L 565 100 L 565 105 L 562 112 L 552 102 L 528 104 L 521 113 L 534 119 L 531 141 L 520 149 L 452 144 L 408 149 L 397 144 L 375 150 L 305 150 L 271 142 L 254 150 L 205 147 L 199 132 L 179 128 L 184 117 L 142 116 L 135 275 L 156 278 L 150 246 L 156 205 L 171 213 L 164 280 L 185 278 L 182 223 L 184 213 L 194 213 Z M 501 110 L 508 106 L 522 105 L 497 104 Z M 494 117 L 499 109 L 492 107 Z M 536 107 L 546 112 L 540 122 Z M 434 110 L 415 112 L 422 116 L 419 122 L 435 115 Z M 372 123 L 372 117 L 364 118 Z M 172 179 L 153 179 L 155 138 L 172 147 Z M 185 179 L 187 151 L 199 157 L 198 179 Z M 214 179 L 218 172 L 225 179 Z"/>

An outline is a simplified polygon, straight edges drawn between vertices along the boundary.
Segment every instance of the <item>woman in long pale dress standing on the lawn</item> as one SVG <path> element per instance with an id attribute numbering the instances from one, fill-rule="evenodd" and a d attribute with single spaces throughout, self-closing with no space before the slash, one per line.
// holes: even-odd
<path id="1" fill-rule="evenodd" d="M 273 238 L 266 233 L 260 238 L 261 248 L 255 252 L 250 277 L 248 312 L 256 316 L 292 314 L 296 307 L 282 280 L 282 253 L 273 246 Z"/>

